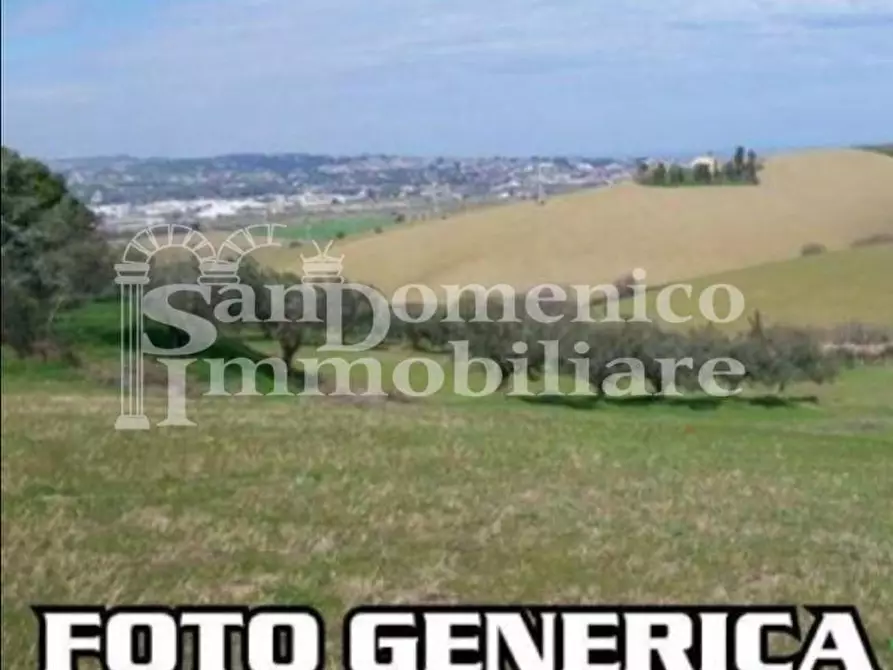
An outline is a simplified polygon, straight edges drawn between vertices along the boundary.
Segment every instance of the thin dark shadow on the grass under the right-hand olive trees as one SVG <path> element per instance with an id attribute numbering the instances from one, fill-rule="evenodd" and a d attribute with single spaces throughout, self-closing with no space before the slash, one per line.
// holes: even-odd
<path id="1" fill-rule="evenodd" d="M 592 410 L 599 407 L 645 408 L 669 407 L 693 411 L 715 411 L 721 407 L 763 407 L 766 409 L 790 409 L 801 405 L 817 405 L 818 397 L 762 395 L 753 397 L 713 398 L 695 396 L 691 398 L 668 398 L 664 396 L 638 396 L 634 398 L 603 398 L 597 396 L 543 395 L 517 398 L 531 405 L 547 407 L 567 407 L 577 410 Z"/>

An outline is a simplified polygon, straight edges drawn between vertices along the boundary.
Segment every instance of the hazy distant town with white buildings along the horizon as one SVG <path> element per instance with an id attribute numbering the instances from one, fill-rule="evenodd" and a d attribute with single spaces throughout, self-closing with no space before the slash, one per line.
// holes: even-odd
<path id="1" fill-rule="evenodd" d="M 639 160 L 311 154 L 52 161 L 110 229 L 378 213 L 430 217 L 631 179 Z"/>

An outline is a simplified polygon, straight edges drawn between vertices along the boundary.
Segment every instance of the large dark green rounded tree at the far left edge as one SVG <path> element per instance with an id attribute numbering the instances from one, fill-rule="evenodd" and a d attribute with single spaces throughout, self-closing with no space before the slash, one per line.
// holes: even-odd
<path id="1" fill-rule="evenodd" d="M 43 163 L 0 147 L 0 341 L 21 356 L 52 339 L 58 311 L 114 287 L 93 213 Z"/>

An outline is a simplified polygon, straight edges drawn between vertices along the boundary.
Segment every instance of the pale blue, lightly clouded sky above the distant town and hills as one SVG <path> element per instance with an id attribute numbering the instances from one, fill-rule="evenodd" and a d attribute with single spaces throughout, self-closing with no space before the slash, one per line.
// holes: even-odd
<path id="1" fill-rule="evenodd" d="M 893 0 L 2 0 L 40 158 L 893 140 Z"/>

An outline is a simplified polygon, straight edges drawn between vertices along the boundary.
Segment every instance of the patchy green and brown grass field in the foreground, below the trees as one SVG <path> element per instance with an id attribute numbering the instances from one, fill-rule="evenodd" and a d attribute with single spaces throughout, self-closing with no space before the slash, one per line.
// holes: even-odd
<path id="1" fill-rule="evenodd" d="M 126 434 L 116 314 L 60 322 L 85 371 L 4 352 L 5 668 L 35 603 L 309 604 L 332 660 L 370 602 L 847 603 L 893 661 L 889 366 L 789 402 L 190 397 L 196 428 Z"/>

